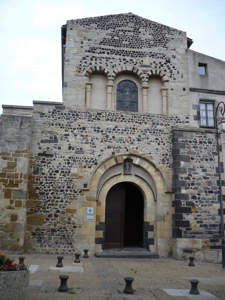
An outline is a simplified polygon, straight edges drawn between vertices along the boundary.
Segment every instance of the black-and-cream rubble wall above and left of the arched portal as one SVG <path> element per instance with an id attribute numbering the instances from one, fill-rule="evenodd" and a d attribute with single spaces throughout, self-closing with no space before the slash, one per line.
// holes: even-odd
<path id="1" fill-rule="evenodd" d="M 188 117 L 183 121 L 178 116 L 84 109 L 53 109 L 40 113 L 40 120 L 29 173 L 30 178 L 35 176 L 29 197 L 38 197 L 39 207 L 30 199 L 28 213 L 44 216 L 43 223 L 31 230 L 35 249 L 57 253 L 74 247 L 81 223 L 66 214 L 66 206 L 82 195 L 90 173 L 104 157 L 140 153 L 169 171 L 171 126 L 188 123 Z M 71 174 L 74 169 L 77 173 Z"/>

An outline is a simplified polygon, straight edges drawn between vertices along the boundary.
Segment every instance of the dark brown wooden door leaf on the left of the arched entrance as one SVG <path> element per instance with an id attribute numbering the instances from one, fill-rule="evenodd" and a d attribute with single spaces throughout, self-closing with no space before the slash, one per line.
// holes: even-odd
<path id="1" fill-rule="evenodd" d="M 105 248 L 122 248 L 124 231 L 125 185 L 112 186 L 105 202 Z"/>

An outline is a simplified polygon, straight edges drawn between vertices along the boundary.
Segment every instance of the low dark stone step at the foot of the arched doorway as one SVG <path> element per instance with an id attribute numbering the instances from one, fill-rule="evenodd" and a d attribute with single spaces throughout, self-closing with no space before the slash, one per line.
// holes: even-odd
<path id="1" fill-rule="evenodd" d="M 158 253 L 150 251 L 102 251 L 101 253 L 95 253 L 96 257 L 107 258 L 159 258 Z"/>

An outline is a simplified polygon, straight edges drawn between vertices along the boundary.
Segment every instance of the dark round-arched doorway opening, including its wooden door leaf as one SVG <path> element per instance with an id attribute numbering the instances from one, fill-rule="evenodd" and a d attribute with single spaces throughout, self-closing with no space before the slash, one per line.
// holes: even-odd
<path id="1" fill-rule="evenodd" d="M 143 247 L 143 196 L 130 182 L 117 183 L 107 192 L 104 247 Z"/>

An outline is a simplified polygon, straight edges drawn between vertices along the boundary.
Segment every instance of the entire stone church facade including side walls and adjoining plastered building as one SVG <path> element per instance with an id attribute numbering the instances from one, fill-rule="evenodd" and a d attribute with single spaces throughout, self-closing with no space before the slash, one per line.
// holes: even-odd
<path id="1" fill-rule="evenodd" d="M 221 260 L 213 109 L 225 62 L 132 13 L 61 33 L 63 102 L 2 105 L 0 248 Z"/>

